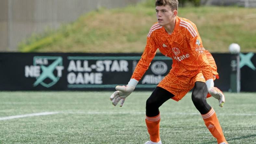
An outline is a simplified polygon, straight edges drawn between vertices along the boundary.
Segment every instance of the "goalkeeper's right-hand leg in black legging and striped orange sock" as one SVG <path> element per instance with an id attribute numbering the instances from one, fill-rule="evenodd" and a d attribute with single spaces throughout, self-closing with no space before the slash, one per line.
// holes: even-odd
<path id="1" fill-rule="evenodd" d="M 206 127 L 209 129 L 212 136 L 217 139 L 218 144 L 223 142 L 227 144 L 215 111 L 206 102 L 207 93 L 208 90 L 206 88 L 206 84 L 204 82 L 197 81 L 192 92 L 192 101 L 198 111 L 201 113 Z"/>

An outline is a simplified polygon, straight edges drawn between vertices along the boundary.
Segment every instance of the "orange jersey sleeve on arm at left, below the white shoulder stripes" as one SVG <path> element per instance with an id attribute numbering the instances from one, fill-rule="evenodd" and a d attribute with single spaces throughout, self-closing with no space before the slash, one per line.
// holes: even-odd
<path id="1" fill-rule="evenodd" d="M 134 73 L 131 78 L 140 80 L 147 71 L 152 59 L 155 57 L 157 51 L 157 45 L 152 37 L 147 37 L 147 44 L 145 50 L 139 60 Z"/>

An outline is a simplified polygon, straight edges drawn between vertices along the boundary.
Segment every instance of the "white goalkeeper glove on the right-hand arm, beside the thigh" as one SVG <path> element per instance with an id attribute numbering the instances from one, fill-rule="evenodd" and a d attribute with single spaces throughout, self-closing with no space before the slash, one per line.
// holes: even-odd
<path id="1" fill-rule="evenodd" d="M 223 107 L 223 105 L 225 103 L 225 96 L 224 96 L 223 92 L 220 89 L 214 87 L 213 79 L 208 79 L 208 80 L 206 80 L 205 83 L 206 83 L 208 92 L 211 94 L 212 97 L 214 97 L 215 99 L 218 99 L 219 106 Z"/>

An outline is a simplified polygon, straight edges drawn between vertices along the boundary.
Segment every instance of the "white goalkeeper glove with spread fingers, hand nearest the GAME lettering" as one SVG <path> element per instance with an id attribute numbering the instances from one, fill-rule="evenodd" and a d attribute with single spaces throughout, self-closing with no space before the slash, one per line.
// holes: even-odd
<path id="1" fill-rule="evenodd" d="M 112 104 L 116 106 L 117 103 L 121 101 L 120 107 L 122 107 L 125 101 L 125 98 L 128 97 L 133 92 L 137 84 L 138 84 L 138 81 L 134 78 L 131 78 L 126 86 L 116 86 L 117 91 L 115 91 L 110 96 L 110 101 L 112 101 Z"/>

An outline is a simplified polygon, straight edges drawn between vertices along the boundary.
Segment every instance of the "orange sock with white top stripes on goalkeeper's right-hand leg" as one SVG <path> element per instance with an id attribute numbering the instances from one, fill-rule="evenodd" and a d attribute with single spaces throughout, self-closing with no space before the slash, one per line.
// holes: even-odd
<path id="1" fill-rule="evenodd" d="M 221 142 L 227 143 L 224 137 L 224 134 L 222 132 L 222 128 L 219 123 L 219 120 L 213 108 L 211 108 L 211 110 L 207 114 L 202 114 L 202 117 L 206 127 L 209 129 L 212 136 L 217 139 L 218 143 L 221 143 Z"/>

